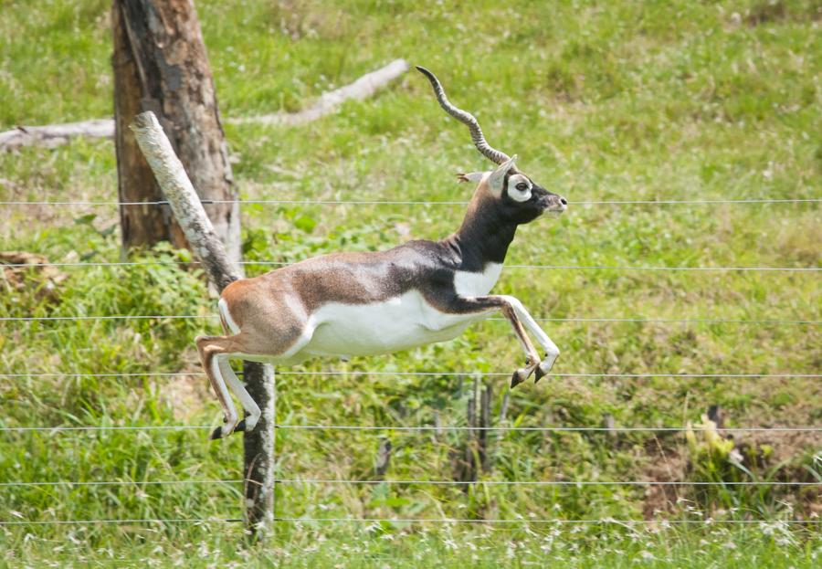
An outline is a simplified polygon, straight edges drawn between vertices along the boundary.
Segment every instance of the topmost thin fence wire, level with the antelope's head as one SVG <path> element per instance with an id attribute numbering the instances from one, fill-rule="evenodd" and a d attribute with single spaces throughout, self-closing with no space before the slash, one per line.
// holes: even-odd
<path id="1" fill-rule="evenodd" d="M 741 198 L 741 199 L 698 199 L 698 200 L 583 200 L 569 202 L 569 205 L 713 205 L 713 204 L 809 204 L 822 202 L 822 198 Z M 202 200 L 202 205 L 248 204 L 248 205 L 468 205 L 467 201 L 449 200 L 307 200 L 307 199 L 235 199 Z M 0 205 L 168 205 L 165 200 L 149 202 L 115 201 L 0 201 Z"/>

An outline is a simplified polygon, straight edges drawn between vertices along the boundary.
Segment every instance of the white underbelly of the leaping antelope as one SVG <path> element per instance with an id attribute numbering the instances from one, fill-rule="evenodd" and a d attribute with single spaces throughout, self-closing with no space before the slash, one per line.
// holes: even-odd
<path id="1" fill-rule="evenodd" d="M 329 303 L 311 315 L 310 355 L 374 355 L 456 338 L 485 314 L 447 314 L 416 290 L 374 304 Z"/>

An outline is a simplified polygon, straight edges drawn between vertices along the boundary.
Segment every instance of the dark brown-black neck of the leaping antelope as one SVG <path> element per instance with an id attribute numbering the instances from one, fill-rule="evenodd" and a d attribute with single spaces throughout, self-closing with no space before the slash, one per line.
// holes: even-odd
<path id="1" fill-rule="evenodd" d="M 482 272 L 489 263 L 505 260 L 516 230 L 517 224 L 503 219 L 493 205 L 480 202 L 469 208 L 462 226 L 446 242 L 458 250 L 459 270 Z"/>

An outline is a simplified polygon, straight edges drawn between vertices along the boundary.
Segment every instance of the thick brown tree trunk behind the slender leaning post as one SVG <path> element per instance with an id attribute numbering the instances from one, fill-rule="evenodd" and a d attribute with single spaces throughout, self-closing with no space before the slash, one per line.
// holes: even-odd
<path id="1" fill-rule="evenodd" d="M 114 0 L 114 111 L 121 202 L 162 199 L 132 132 L 134 116 L 154 111 L 202 200 L 236 200 L 214 82 L 191 0 Z M 186 247 L 167 207 L 121 207 L 124 248 L 168 240 Z M 239 205 L 208 206 L 228 258 L 239 260 Z"/>

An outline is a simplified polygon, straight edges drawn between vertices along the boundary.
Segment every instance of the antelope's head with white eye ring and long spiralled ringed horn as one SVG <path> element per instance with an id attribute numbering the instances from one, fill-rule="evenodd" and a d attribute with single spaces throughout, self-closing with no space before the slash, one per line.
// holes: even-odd
<path id="1" fill-rule="evenodd" d="M 477 185 L 473 202 L 492 205 L 497 213 L 506 220 L 516 224 L 529 223 L 543 213 L 560 215 L 565 211 L 568 202 L 561 195 L 549 192 L 536 184 L 530 176 L 517 169 L 517 156 L 509 156 L 490 146 L 479 128 L 479 122 L 468 111 L 462 111 L 446 98 L 439 79 L 427 68 L 416 66 L 431 82 L 439 106 L 458 121 L 466 124 L 471 132 L 471 141 L 483 156 L 497 167 L 488 172 L 458 174 L 460 182 L 473 182 Z"/>

